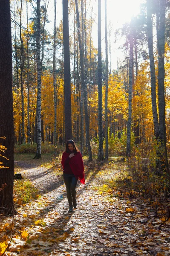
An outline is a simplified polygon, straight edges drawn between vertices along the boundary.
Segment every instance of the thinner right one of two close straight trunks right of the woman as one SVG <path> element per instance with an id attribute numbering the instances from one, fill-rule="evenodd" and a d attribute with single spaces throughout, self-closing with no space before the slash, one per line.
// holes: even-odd
<path id="1" fill-rule="evenodd" d="M 105 50 L 106 50 L 106 80 L 105 80 L 105 158 L 109 157 L 108 141 L 108 42 L 107 42 L 107 0 L 105 0 Z"/>

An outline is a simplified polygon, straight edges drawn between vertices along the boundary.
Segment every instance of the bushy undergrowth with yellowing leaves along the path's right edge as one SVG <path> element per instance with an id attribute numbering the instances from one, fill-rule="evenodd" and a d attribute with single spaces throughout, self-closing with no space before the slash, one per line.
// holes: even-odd
<path id="1" fill-rule="evenodd" d="M 93 189 L 107 197 L 110 202 L 114 198 L 135 202 L 141 211 L 150 207 L 156 218 L 167 221 L 170 218 L 170 194 L 168 178 L 165 171 L 158 174 L 156 161 L 158 148 L 141 145 L 135 148 L 132 156 L 125 159 L 105 162 L 98 186 Z M 112 178 L 107 178 L 112 174 Z M 136 201 L 137 199 L 137 201 Z M 137 203 L 136 203 L 137 202 Z M 133 211 L 133 208 L 130 208 Z"/>

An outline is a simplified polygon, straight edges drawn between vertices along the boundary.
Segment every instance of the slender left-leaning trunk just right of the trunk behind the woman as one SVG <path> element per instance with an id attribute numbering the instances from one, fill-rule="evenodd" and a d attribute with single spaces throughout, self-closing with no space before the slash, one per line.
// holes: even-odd
<path id="1" fill-rule="evenodd" d="M 81 86 L 83 88 L 84 112 L 85 112 L 85 122 L 86 122 L 86 142 L 87 142 L 87 147 L 88 147 L 89 161 L 92 161 L 92 150 L 91 150 L 91 145 L 90 145 L 89 116 L 88 116 L 88 110 L 87 110 L 87 95 L 86 95 L 85 80 L 84 80 L 84 56 L 83 56 L 83 49 L 82 49 L 82 42 L 81 42 L 80 18 L 79 18 L 78 1 L 77 0 L 75 0 L 75 7 L 76 7 L 77 23 L 78 23 L 78 43 L 79 43 L 79 50 L 80 50 L 80 65 L 81 65 Z"/>

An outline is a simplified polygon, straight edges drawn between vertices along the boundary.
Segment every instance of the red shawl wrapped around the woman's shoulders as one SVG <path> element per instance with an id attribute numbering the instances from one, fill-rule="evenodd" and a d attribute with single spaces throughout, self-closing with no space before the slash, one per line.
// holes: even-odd
<path id="1" fill-rule="evenodd" d="M 69 157 L 70 153 L 63 152 L 62 155 L 62 166 L 64 168 L 64 162 L 67 157 Z M 84 179 L 84 164 L 83 164 L 83 159 L 81 156 L 80 151 L 78 151 L 74 157 L 72 157 L 69 160 L 69 166 L 72 169 L 73 174 L 75 175 L 76 178 L 80 180 L 81 183 L 85 184 L 85 179 Z"/>

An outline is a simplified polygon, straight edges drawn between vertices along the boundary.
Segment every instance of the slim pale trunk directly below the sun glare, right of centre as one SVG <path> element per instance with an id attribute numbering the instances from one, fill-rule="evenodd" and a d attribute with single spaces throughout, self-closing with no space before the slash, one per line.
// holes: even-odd
<path id="1" fill-rule="evenodd" d="M 126 155 L 130 157 L 131 123 L 132 123 L 132 85 L 133 85 L 133 33 L 132 20 L 130 28 L 130 58 L 129 58 L 129 107 L 127 121 L 127 149 Z"/>

